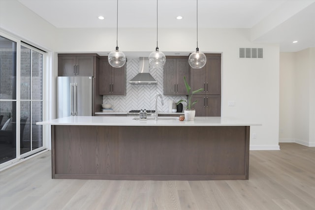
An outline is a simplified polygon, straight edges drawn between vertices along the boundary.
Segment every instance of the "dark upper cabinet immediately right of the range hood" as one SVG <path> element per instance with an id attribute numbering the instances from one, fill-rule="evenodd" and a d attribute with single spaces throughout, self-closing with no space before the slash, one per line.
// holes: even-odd
<path id="1" fill-rule="evenodd" d="M 164 95 L 186 95 L 184 76 L 189 82 L 188 57 L 167 56 L 163 70 Z"/>

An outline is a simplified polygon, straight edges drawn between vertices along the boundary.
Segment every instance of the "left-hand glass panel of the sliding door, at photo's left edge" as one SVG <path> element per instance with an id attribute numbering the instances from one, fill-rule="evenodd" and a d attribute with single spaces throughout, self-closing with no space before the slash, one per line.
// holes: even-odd
<path id="1" fill-rule="evenodd" d="M 0 36 L 0 164 L 16 158 L 17 43 Z"/>

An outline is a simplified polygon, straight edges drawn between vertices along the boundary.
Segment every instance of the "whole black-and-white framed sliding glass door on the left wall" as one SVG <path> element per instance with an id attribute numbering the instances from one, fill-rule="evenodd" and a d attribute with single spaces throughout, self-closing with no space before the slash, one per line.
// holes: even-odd
<path id="1" fill-rule="evenodd" d="M 43 150 L 43 54 L 0 36 L 0 166 Z"/>

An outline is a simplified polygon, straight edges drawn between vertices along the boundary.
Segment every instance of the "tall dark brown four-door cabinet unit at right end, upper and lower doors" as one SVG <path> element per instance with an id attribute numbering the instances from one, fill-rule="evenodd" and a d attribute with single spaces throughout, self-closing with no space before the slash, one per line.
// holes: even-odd
<path id="1" fill-rule="evenodd" d="M 204 89 L 193 95 L 198 100 L 194 105 L 198 117 L 221 116 L 221 54 L 206 54 L 207 63 L 201 69 L 190 68 L 192 90 Z"/>

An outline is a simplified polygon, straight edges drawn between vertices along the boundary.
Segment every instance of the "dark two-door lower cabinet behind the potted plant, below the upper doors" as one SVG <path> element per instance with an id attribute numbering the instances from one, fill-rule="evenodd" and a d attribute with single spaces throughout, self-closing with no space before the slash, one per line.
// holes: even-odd
<path id="1" fill-rule="evenodd" d="M 221 95 L 193 95 L 192 101 L 198 102 L 193 105 L 196 117 L 220 117 Z"/>

